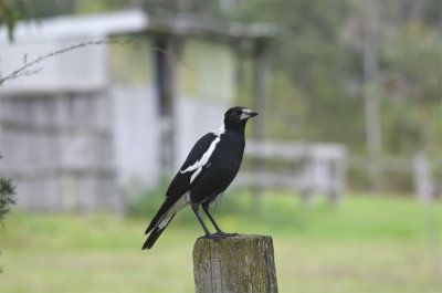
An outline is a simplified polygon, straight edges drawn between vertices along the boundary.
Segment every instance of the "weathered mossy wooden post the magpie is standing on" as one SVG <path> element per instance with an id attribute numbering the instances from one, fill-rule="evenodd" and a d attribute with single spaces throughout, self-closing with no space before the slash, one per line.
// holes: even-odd
<path id="1" fill-rule="evenodd" d="M 193 274 L 197 293 L 277 293 L 272 238 L 199 238 Z"/>

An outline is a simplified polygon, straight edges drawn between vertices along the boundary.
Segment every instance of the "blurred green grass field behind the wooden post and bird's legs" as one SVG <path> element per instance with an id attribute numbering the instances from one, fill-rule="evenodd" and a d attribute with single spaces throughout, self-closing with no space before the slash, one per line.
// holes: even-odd
<path id="1" fill-rule="evenodd" d="M 304 209 L 266 193 L 260 212 L 251 207 L 250 193 L 230 192 L 213 213 L 225 231 L 273 237 L 280 292 L 441 292 L 440 202 L 352 196 Z M 0 292 L 193 292 L 198 221 L 183 210 L 146 252 L 150 217 L 12 213 L 0 227 Z"/>

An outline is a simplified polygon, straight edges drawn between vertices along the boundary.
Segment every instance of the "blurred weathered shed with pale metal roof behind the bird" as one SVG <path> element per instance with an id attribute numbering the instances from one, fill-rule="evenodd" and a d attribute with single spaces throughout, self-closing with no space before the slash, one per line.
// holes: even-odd
<path id="1" fill-rule="evenodd" d="M 2 76 L 51 52 L 99 44 L 48 57 L 3 84 L 0 175 L 14 179 L 24 209 L 122 211 L 125 189 L 155 186 L 219 125 L 234 101 L 239 45 L 261 70 L 262 105 L 263 48 L 275 32 L 140 10 L 18 23 L 14 43 L 2 28 Z"/>

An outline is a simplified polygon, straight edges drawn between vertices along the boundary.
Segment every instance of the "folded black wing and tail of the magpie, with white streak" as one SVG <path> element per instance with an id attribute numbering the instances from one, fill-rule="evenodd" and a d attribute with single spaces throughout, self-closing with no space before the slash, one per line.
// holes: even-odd
<path id="1" fill-rule="evenodd" d="M 194 144 L 186 161 L 182 164 L 173 180 L 170 182 L 170 186 L 166 192 L 166 200 L 159 208 L 157 214 L 150 221 L 149 227 L 146 229 L 146 234 L 158 226 L 158 223 L 164 219 L 169 209 L 180 199 L 182 195 L 188 192 L 198 181 L 201 175 L 204 174 L 207 166 L 209 166 L 210 163 L 210 155 L 211 153 L 213 153 L 219 139 L 220 137 L 218 137 L 213 133 L 208 133 L 207 135 L 201 137 L 197 142 L 197 144 Z M 161 233 L 164 229 L 157 230 L 158 231 L 155 233 L 156 236 L 149 236 L 149 239 L 151 237 L 151 240 L 156 240 L 156 238 L 159 237 L 159 233 Z M 155 242 L 155 240 L 148 241 L 149 244 L 150 242 Z"/>

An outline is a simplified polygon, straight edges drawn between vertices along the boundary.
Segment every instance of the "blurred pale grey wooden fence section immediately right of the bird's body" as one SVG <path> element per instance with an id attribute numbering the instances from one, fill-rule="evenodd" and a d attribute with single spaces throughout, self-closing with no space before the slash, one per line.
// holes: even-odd
<path id="1" fill-rule="evenodd" d="M 236 186 L 297 191 L 307 205 L 317 193 L 337 203 L 345 191 L 346 149 L 338 144 L 248 140 L 244 158 Z"/>

